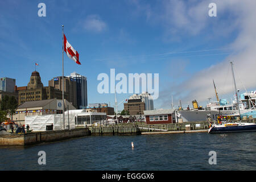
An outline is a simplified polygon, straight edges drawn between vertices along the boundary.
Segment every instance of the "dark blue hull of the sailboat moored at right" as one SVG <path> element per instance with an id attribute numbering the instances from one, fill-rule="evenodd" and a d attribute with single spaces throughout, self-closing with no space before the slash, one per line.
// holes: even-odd
<path id="1" fill-rule="evenodd" d="M 229 133 L 242 131 L 256 131 L 256 125 L 211 127 L 208 133 Z"/>

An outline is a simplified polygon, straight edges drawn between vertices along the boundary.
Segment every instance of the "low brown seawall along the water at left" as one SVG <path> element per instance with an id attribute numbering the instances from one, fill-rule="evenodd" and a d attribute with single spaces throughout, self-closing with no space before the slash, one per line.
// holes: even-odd
<path id="1" fill-rule="evenodd" d="M 28 146 L 31 144 L 55 142 L 88 135 L 90 135 L 88 128 L 0 135 L 0 146 Z"/>

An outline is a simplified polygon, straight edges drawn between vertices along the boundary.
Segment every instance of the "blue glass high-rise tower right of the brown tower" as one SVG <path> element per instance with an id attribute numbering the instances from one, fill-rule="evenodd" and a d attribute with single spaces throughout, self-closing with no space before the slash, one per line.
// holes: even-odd
<path id="1" fill-rule="evenodd" d="M 76 96 L 77 96 L 77 107 L 79 109 L 85 109 L 88 105 L 87 101 L 87 78 L 74 72 L 70 76 L 76 81 Z"/>

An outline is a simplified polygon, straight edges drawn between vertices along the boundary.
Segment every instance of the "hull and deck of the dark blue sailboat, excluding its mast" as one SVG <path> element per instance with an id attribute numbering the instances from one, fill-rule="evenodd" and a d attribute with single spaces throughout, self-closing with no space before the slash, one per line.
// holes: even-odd
<path id="1" fill-rule="evenodd" d="M 208 133 L 228 133 L 239 131 L 256 131 L 255 123 L 242 123 L 242 122 L 228 122 L 221 125 L 213 124 L 210 126 Z"/>

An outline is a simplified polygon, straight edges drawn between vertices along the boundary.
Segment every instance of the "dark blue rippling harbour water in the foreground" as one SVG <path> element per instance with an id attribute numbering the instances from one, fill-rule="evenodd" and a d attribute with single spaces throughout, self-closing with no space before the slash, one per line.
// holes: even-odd
<path id="1" fill-rule="evenodd" d="M 0 170 L 256 170 L 255 140 L 256 132 L 90 136 L 1 147 Z M 39 151 L 46 165 L 38 164 Z M 217 164 L 209 164 L 210 151 Z"/>

